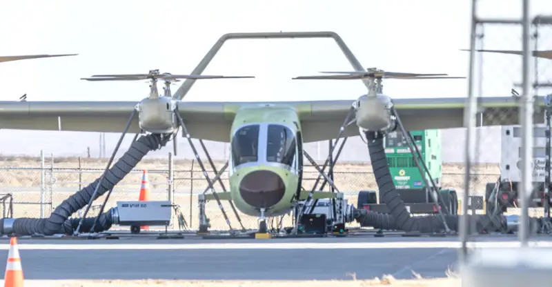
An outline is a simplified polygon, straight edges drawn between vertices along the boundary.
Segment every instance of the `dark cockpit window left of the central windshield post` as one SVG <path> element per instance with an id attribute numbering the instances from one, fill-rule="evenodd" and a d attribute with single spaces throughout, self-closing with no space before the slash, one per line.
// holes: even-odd
<path id="1" fill-rule="evenodd" d="M 239 128 L 232 139 L 233 165 L 255 162 L 259 153 L 259 125 Z"/>

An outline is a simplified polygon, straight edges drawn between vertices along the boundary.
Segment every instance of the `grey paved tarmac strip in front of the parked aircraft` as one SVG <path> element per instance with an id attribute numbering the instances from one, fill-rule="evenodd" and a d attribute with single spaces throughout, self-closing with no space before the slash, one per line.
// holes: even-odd
<path id="1" fill-rule="evenodd" d="M 516 246 L 517 237 L 476 239 Z M 549 238 L 539 246 L 550 248 Z M 19 239 L 26 279 L 324 280 L 446 277 L 457 270 L 455 237 L 318 239 Z M 0 239 L 0 258 L 9 241 Z M 5 268 L 5 264 L 2 264 Z M 0 270 L 0 272 L 4 272 Z"/>

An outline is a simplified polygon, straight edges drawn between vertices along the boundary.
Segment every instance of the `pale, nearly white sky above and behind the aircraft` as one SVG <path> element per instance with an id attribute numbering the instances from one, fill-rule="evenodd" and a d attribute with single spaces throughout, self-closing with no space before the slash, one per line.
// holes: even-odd
<path id="1" fill-rule="evenodd" d="M 482 15 L 521 15 L 518 0 L 480 2 Z M 552 13 L 549 1 L 532 2 L 531 10 Z M 331 30 L 342 36 L 366 68 L 467 76 L 469 53 L 459 49 L 469 48 L 470 6 L 468 0 L 6 1 L 0 9 L 0 55 L 79 55 L 2 63 L 0 99 L 17 100 L 27 93 L 29 101 L 139 101 L 148 93 L 145 82 L 80 78 L 155 68 L 186 74 L 226 32 Z M 519 32 L 490 32 L 488 37 L 494 40 L 486 48 L 521 48 Z M 520 79 L 520 58 L 489 59 L 504 65 L 504 77 L 490 81 L 486 92 L 508 95 L 509 85 Z M 331 39 L 233 40 L 204 74 L 257 78 L 197 81 L 185 100 L 355 99 L 366 91 L 360 81 L 290 79 L 321 70 L 351 69 Z M 384 92 L 395 98 L 465 97 L 466 90 L 463 79 L 384 82 Z M 43 140 L 37 143 L 30 140 L 32 132 L 2 130 L 0 135 L 8 139 L 0 143 L 2 152 L 31 154 L 42 146 L 53 152 L 71 148 L 81 152 L 86 141 L 93 141 L 89 145 L 97 149 L 98 137 L 41 132 Z M 108 152 L 117 137 L 108 135 Z M 67 142 L 74 144 L 68 147 Z"/>

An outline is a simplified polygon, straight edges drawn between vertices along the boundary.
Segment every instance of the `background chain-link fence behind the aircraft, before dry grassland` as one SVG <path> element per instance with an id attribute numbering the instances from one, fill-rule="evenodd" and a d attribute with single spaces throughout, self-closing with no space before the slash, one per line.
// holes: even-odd
<path id="1" fill-rule="evenodd" d="M 88 186 L 95 179 L 101 176 L 105 164 L 103 161 L 98 161 L 94 164 L 94 168 L 75 168 L 76 164 L 51 164 L 46 163 L 44 167 L 1 167 L 0 168 L 0 186 L 1 194 L 12 194 L 13 217 L 49 217 L 52 210 L 58 206 L 61 201 L 67 199 L 77 190 Z M 219 170 L 224 166 L 223 162 L 215 162 L 215 168 Z M 90 164 L 88 164 L 90 166 Z M 203 172 L 199 168 L 197 162 L 186 161 L 184 163 L 177 162 L 174 164 L 174 169 L 169 168 L 169 161 L 159 161 L 155 166 L 144 164 L 137 166 L 117 186 L 115 186 L 106 210 L 115 206 L 117 201 L 134 201 L 138 200 L 142 170 L 148 171 L 148 180 L 150 186 L 150 195 L 152 200 L 167 200 L 172 198 L 175 204 L 180 206 L 180 210 L 186 219 L 188 228 L 196 230 L 199 228 L 199 208 L 198 195 L 205 192 L 208 188 Z M 208 168 L 208 166 L 206 166 Z M 170 181 L 170 170 L 172 170 L 172 183 Z M 464 190 L 463 180 L 464 173 L 461 164 L 445 164 L 444 173 L 442 175 L 442 188 L 454 188 L 458 193 L 458 198 L 462 198 Z M 327 171 L 327 170 L 326 170 Z M 471 195 L 482 197 L 485 192 L 487 183 L 493 183 L 497 180 L 498 166 L 492 164 L 480 165 L 474 174 L 475 181 L 471 182 Z M 208 176 L 210 179 L 215 178 L 216 173 L 210 170 Z M 306 190 L 311 190 L 315 183 L 318 172 L 313 166 L 304 167 L 303 187 Z M 335 186 L 340 192 L 344 192 L 348 204 L 353 204 L 357 207 L 357 195 L 359 190 L 377 190 L 377 184 L 369 164 L 336 164 L 333 168 L 333 178 Z M 228 173 L 225 171 L 221 176 L 221 181 L 225 186 L 226 191 L 230 191 L 228 182 Z M 323 179 L 322 179 L 323 181 Z M 319 182 L 317 190 L 320 188 Z M 330 186 L 326 184 L 322 190 L 330 190 Z M 215 182 L 215 191 L 224 192 L 219 182 Z M 206 194 L 210 194 L 210 190 Z M 92 206 L 88 216 L 97 215 L 99 206 L 103 203 L 106 195 L 97 199 Z M 0 200 L 1 201 L 1 200 Z M 221 204 L 230 219 L 233 228 L 240 228 L 239 221 L 233 212 L 228 201 L 221 201 Z M 461 202 L 459 206 L 461 206 Z M 4 210 L 9 211 L 9 199 L 6 199 Z M 41 214 L 40 207 L 43 207 Z M 484 203 L 473 201 L 471 206 L 477 209 L 477 212 L 484 211 Z M 460 208 L 459 208 L 460 209 Z M 460 209 L 461 210 L 461 209 Z M 75 217 L 81 216 L 83 210 L 79 210 Z M 250 217 L 237 212 L 242 220 L 245 228 L 257 228 L 257 217 Z M 216 201 L 208 201 L 206 204 L 206 215 L 210 219 L 211 230 L 228 230 L 228 224 L 217 205 Z M 274 219 L 268 221 L 270 224 L 275 224 Z M 291 214 L 284 217 L 284 226 L 291 225 Z M 358 224 L 353 222 L 351 227 L 357 227 Z M 117 228 L 115 226 L 114 228 Z M 157 227 L 152 226 L 151 229 Z M 174 223 L 170 228 L 178 228 Z M 160 226 L 157 229 L 164 229 Z"/>

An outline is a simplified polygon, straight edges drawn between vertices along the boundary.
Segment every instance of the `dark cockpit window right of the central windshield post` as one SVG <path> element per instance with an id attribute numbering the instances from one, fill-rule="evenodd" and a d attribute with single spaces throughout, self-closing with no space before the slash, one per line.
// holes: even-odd
<path id="1" fill-rule="evenodd" d="M 282 125 L 268 125 L 266 161 L 293 166 L 295 158 L 295 135 Z"/>

